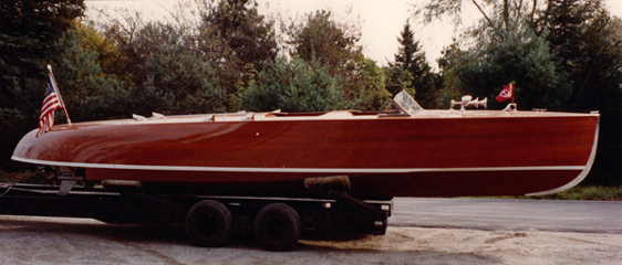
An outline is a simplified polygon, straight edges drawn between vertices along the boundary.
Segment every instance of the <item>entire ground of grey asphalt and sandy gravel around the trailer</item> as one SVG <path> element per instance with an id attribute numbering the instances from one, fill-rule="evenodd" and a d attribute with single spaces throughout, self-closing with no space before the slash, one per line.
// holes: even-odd
<path id="1" fill-rule="evenodd" d="M 180 226 L 0 215 L 0 264 L 620 264 L 622 203 L 395 199 L 382 236 L 197 247 Z M 408 227 L 414 226 L 414 227 Z M 573 232 L 563 232 L 573 231 Z M 574 233 L 581 232 L 581 233 Z"/>

